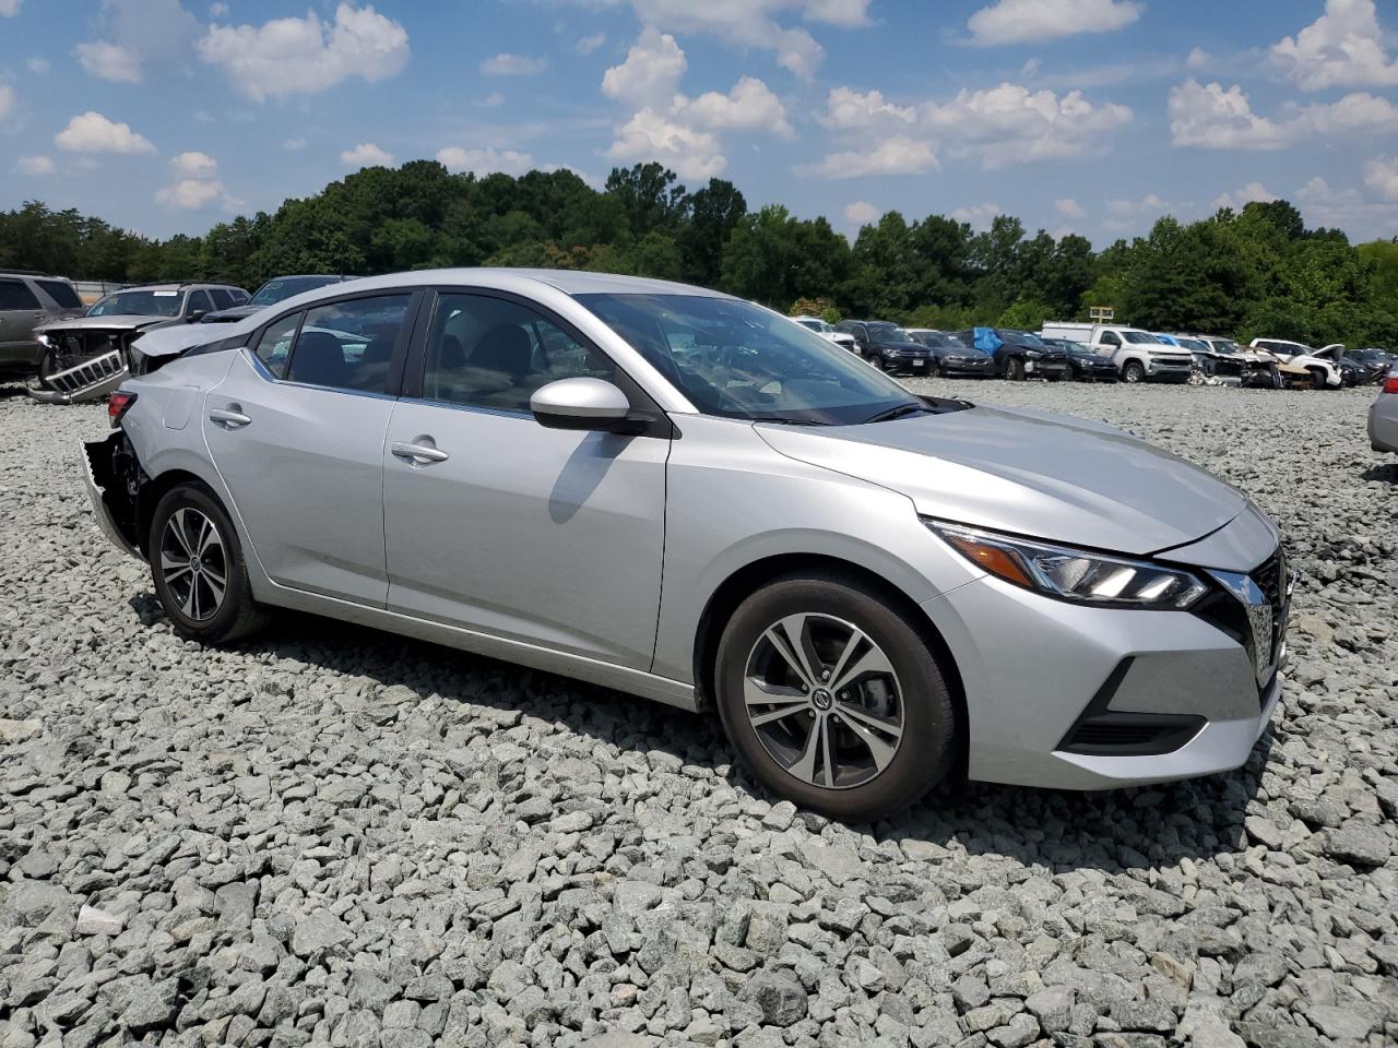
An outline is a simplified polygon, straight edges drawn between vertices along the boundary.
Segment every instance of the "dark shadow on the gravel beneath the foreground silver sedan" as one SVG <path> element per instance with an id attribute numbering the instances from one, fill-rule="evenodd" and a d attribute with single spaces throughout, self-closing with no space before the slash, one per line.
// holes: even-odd
<path id="1" fill-rule="evenodd" d="M 168 629 L 154 594 L 133 597 L 130 605 L 147 625 Z M 734 763 L 716 715 L 688 714 L 608 687 L 301 612 L 278 611 L 266 632 L 231 650 L 259 664 L 271 655 L 369 678 L 384 687 L 408 685 L 424 697 L 435 693 L 450 701 L 517 710 L 621 750 L 661 752 L 682 764 L 713 769 L 752 796 L 776 799 Z M 1243 816 L 1272 742 L 1272 732 L 1265 732 L 1237 771 L 1158 787 L 1081 792 L 952 777 L 907 812 L 851 829 L 882 841 L 935 844 L 949 851 L 948 859 L 963 850 L 1054 873 L 1120 873 L 1211 859 L 1246 847 Z M 808 812 L 800 817 L 814 833 L 828 823 Z"/>

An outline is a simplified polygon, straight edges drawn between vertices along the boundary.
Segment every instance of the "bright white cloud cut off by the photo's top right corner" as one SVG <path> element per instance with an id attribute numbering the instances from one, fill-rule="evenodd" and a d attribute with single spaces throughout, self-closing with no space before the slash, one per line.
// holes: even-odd
<path id="1" fill-rule="evenodd" d="M 1398 87 L 1374 0 L 1327 0 L 1325 14 L 1272 46 L 1272 60 L 1304 91 Z"/>

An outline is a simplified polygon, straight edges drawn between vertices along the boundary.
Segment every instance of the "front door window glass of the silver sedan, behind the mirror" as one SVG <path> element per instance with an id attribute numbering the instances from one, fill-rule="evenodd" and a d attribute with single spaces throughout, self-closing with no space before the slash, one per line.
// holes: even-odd
<path id="1" fill-rule="evenodd" d="M 442 295 L 428 334 L 422 394 L 447 404 L 528 411 L 559 379 L 612 381 L 615 367 L 542 314 L 485 295 Z"/>

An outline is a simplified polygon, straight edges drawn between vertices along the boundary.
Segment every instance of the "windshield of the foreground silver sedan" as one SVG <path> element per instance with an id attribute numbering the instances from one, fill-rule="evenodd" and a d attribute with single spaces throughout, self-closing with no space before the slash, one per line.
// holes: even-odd
<path id="1" fill-rule="evenodd" d="M 833 342 L 751 302 L 579 295 L 706 415 L 850 425 L 921 401 Z"/>

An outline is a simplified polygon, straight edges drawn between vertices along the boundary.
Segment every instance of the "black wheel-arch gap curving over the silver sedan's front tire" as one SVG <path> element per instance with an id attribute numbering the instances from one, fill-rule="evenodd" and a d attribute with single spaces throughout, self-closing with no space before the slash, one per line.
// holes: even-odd
<path id="1" fill-rule="evenodd" d="M 966 687 L 951 646 L 946 644 L 941 632 L 917 605 L 917 601 L 903 592 L 895 583 L 878 572 L 837 556 L 823 553 L 777 553 L 744 565 L 719 584 L 709 595 L 695 636 L 693 681 L 698 708 L 702 711 L 712 711 L 714 708 L 714 671 L 717 668 L 714 664 L 719 654 L 719 641 L 723 637 L 724 626 L 727 626 L 728 619 L 733 618 L 738 605 L 768 583 L 802 572 L 846 576 L 851 581 L 874 590 L 888 599 L 891 605 L 903 612 L 909 622 L 923 634 L 932 653 L 932 658 L 937 661 L 938 669 L 942 672 L 946 689 L 951 693 L 952 706 L 956 710 L 958 766 L 965 767 L 967 748 Z"/>

